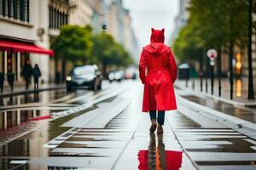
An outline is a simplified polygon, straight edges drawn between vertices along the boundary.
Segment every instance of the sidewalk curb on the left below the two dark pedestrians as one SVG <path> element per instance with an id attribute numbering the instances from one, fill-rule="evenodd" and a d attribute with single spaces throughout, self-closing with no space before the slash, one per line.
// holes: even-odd
<path id="1" fill-rule="evenodd" d="M 61 86 L 55 86 L 55 87 L 50 87 L 50 88 L 39 88 L 38 90 L 30 89 L 30 90 L 24 90 L 24 91 L 10 92 L 7 94 L 0 94 L 0 98 L 11 97 L 11 96 L 20 95 L 20 94 L 32 94 L 32 93 L 36 93 L 36 92 L 43 92 L 43 91 L 48 91 L 48 90 L 64 89 L 64 88 L 66 88 L 66 86 L 61 85 Z"/>

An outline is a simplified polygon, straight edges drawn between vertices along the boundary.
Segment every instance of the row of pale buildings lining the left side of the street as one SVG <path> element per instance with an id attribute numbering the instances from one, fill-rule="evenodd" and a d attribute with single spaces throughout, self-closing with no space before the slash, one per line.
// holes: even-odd
<path id="1" fill-rule="evenodd" d="M 108 33 L 137 60 L 137 38 L 122 0 L 0 0 L 0 72 L 13 72 L 15 83 L 23 83 L 22 68 L 29 60 L 39 65 L 43 82 L 63 80 L 66 64 L 51 57 L 49 48 L 61 26 L 68 24 L 90 25 L 95 33 L 107 25 Z"/>

